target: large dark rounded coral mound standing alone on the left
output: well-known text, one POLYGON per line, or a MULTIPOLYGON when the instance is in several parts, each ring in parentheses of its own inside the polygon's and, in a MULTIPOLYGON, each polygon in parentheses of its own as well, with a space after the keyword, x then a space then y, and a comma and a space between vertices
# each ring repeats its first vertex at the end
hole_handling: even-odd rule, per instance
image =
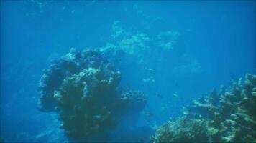
POLYGON ((71 141, 106 141, 120 119, 146 104, 140 92, 118 87, 121 73, 100 51, 70 53, 54 61, 40 79, 42 112, 58 112, 71 141))

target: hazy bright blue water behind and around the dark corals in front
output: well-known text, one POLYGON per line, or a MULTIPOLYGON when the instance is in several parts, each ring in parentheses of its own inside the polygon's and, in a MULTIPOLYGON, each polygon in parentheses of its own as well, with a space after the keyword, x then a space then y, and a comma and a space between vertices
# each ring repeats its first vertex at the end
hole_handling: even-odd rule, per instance
POLYGON ((114 44, 128 50, 109 57, 122 72, 120 86, 147 98, 134 125, 143 132, 116 130, 149 142, 155 127, 181 116, 193 99, 255 70, 255 6, 255 1, 1 1, 0 137, 68 142, 58 114, 37 109, 42 69, 72 47, 114 44))

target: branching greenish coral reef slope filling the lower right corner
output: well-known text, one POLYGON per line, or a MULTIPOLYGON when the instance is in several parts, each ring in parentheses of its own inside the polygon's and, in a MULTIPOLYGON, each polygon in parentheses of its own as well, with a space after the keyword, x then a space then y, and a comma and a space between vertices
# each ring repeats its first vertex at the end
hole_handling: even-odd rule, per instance
POLYGON ((152 142, 256 142, 256 75, 247 74, 185 107, 184 116, 158 127, 152 142))

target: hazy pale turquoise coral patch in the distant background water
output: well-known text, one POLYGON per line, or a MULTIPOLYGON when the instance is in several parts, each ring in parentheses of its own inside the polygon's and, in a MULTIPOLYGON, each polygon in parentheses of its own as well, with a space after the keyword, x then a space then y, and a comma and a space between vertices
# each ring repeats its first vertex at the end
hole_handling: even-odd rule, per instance
MULTIPOLYGON (((152 52, 166 52, 173 49, 178 43, 180 32, 162 31, 149 36, 149 31, 139 31, 132 26, 127 26, 121 21, 114 21, 111 27, 111 43, 101 47, 100 50, 107 54, 116 56, 122 51, 128 56, 135 56, 146 60, 147 55, 152 52)), ((152 56, 152 55, 151 55, 152 56)))

